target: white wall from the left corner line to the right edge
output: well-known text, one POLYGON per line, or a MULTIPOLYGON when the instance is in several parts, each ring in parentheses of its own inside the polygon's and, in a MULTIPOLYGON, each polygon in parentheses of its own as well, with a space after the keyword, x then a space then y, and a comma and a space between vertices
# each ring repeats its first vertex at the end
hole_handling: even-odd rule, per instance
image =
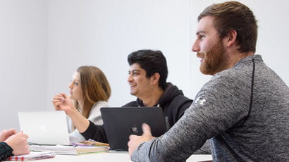
MULTIPOLYGON (((213 2, 49 1, 48 96, 67 93, 73 71, 89 64, 104 70, 113 91, 109 103, 121 106, 135 99, 130 96, 126 82, 128 54, 138 49, 160 49, 168 61, 168 81, 194 98, 210 76, 199 72, 199 59, 190 49, 195 40, 197 15, 213 2)), ((289 2, 279 0, 273 8, 271 1, 241 2, 250 6, 259 20, 257 53, 262 54, 265 63, 288 84, 286 59, 283 59, 288 55, 282 47, 289 36, 283 32, 289 25, 286 18, 289 2)), ((47 104, 50 102, 48 99, 47 104)))

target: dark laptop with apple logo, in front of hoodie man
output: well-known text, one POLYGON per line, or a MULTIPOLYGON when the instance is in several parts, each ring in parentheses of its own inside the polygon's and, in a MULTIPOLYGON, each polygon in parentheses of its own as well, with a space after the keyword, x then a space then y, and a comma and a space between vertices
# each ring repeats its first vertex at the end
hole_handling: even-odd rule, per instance
POLYGON ((167 130, 160 107, 103 107, 100 111, 111 150, 128 151, 128 137, 142 135, 142 123, 151 127, 154 137, 167 130))

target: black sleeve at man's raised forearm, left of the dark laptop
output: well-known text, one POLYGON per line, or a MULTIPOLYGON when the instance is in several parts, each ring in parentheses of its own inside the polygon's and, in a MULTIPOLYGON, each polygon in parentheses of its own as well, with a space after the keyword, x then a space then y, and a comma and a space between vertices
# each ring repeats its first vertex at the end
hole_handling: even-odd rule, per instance
POLYGON ((104 125, 94 125, 92 121, 90 121, 90 125, 87 127, 85 132, 80 133, 85 139, 93 139, 97 142, 108 143, 106 133, 104 131, 104 125))

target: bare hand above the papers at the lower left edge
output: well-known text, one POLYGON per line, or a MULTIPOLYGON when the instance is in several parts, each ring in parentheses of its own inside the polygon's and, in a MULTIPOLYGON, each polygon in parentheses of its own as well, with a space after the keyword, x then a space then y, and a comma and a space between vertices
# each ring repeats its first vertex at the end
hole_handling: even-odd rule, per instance
POLYGON ((15 156, 29 154, 30 149, 27 142, 28 135, 24 134, 23 131, 18 132, 16 135, 8 137, 4 142, 8 144, 12 149, 12 153, 15 156))

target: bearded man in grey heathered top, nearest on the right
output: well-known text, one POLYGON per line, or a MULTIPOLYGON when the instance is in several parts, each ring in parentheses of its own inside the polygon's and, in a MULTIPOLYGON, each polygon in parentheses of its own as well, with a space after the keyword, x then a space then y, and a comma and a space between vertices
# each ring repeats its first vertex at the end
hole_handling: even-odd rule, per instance
POLYGON ((192 51, 214 75, 161 137, 143 125, 131 135, 132 161, 185 161, 211 141, 213 161, 288 161, 289 89, 255 55, 257 20, 237 1, 213 4, 198 17, 192 51))

